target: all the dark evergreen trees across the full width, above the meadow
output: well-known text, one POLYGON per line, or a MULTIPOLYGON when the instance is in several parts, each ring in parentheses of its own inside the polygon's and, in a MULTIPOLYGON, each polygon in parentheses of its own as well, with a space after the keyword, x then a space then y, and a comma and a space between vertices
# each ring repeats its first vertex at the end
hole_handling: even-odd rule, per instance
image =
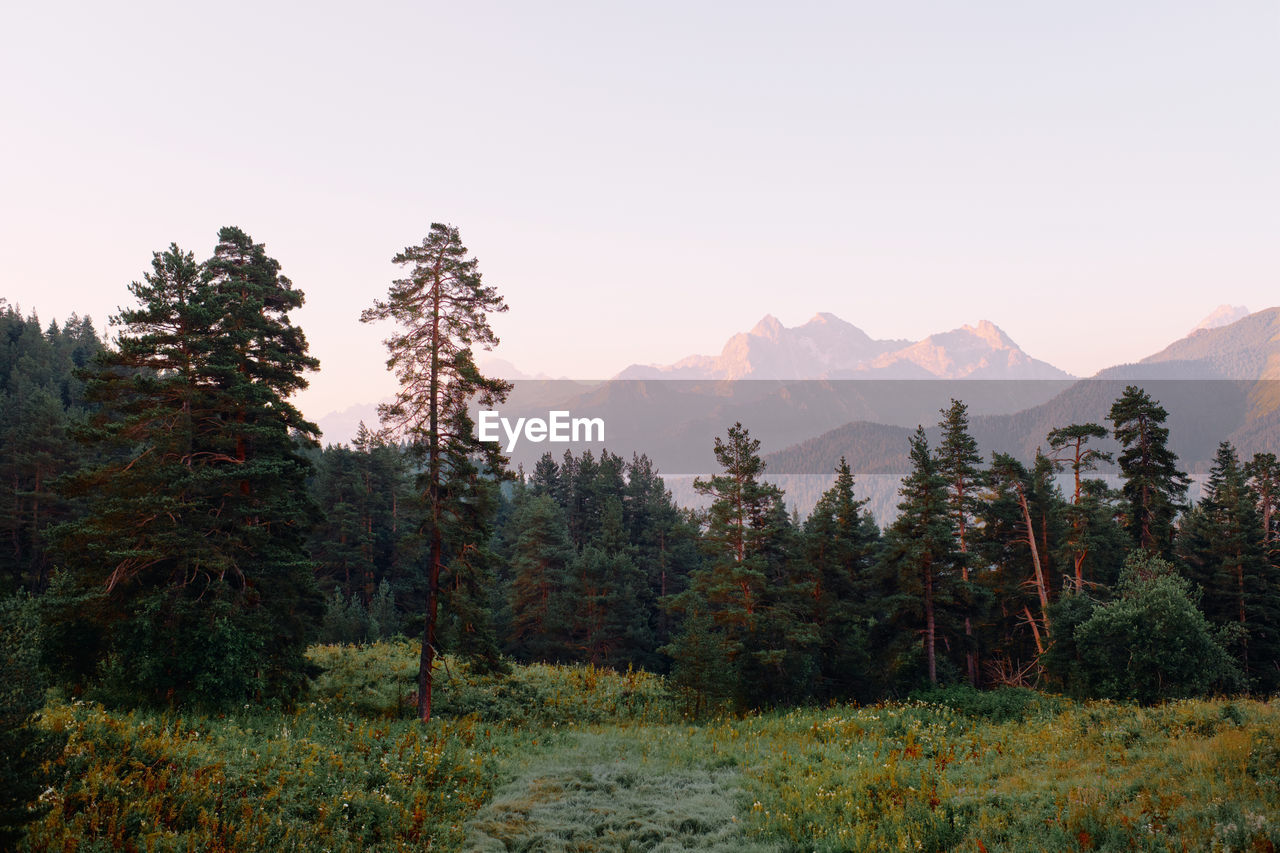
MULTIPOLYGON (((1139 387, 1029 461, 980 457, 952 401, 936 447, 910 438, 884 529, 844 461, 806 519, 788 512, 735 424, 691 511, 644 455, 508 471, 468 412, 507 393, 472 360, 506 306, 454 228, 394 260, 406 278, 362 319, 399 324, 402 392, 381 429, 323 450, 289 403, 319 366, 289 320, 302 293, 237 228, 205 261, 156 252, 110 345, 88 319, 42 328, 0 302, 6 738, 40 742, 24 726, 46 672, 122 704, 288 706, 315 675, 308 643, 402 633, 424 640, 424 720, 443 653, 494 674, 663 671, 737 707, 947 683, 1146 702, 1280 688, 1280 464, 1224 442, 1189 505, 1139 387)), ((0 775, 27 790, 28 770, 0 775)))

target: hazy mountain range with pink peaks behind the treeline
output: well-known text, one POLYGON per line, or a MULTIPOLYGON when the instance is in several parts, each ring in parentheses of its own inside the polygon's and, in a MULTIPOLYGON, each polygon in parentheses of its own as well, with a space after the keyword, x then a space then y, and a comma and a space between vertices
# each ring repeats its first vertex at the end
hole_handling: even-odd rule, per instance
MULTIPOLYGON (((1238 316, 1242 310, 1224 306, 1160 352, 1089 379, 1030 357, 989 321, 913 342, 874 339, 831 314, 795 328, 765 316, 730 338, 719 356, 632 365, 607 382, 548 380, 502 362, 488 369, 516 383, 504 414, 563 409, 602 416, 609 425, 604 446, 625 457, 649 453, 669 482, 714 470, 714 437, 741 421, 760 439, 769 471, 805 480, 817 494, 844 456, 859 482, 884 480, 879 503, 892 511, 906 437, 916 424, 936 424, 952 397, 969 405, 984 455, 1002 450, 1029 460, 1055 426, 1106 424, 1130 382, 1169 410, 1171 444, 1185 470, 1202 471, 1224 439, 1244 455, 1280 450, 1280 309, 1238 316)), ((376 423, 372 403, 320 425, 329 441, 344 441, 360 419, 376 423)), ((548 450, 558 456, 563 446, 525 443, 512 462, 527 470, 548 450)), ((801 510, 810 503, 796 484, 787 491, 801 510)))

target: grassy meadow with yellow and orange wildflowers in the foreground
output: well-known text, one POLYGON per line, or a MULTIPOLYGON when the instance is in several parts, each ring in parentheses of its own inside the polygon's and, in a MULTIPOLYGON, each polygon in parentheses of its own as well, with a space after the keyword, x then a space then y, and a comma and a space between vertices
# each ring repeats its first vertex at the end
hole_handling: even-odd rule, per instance
POLYGON ((289 713, 113 712, 65 731, 37 850, 1274 850, 1280 706, 1029 690, 691 720, 646 674, 440 674, 316 647, 289 713))

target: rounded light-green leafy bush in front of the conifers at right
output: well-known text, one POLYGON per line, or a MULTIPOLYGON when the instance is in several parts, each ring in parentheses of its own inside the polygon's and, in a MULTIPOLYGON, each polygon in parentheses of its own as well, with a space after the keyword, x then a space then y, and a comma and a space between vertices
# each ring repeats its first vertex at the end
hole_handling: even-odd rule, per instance
POLYGON ((1170 564, 1135 552, 1119 593, 1075 628, 1078 671, 1092 695, 1158 702, 1243 686, 1222 638, 1170 564))

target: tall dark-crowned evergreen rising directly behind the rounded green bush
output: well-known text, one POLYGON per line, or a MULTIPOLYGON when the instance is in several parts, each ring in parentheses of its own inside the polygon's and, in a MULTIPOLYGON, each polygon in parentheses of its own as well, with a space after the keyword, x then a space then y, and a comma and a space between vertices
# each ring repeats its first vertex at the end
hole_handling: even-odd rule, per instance
POLYGON ((1178 470, 1178 456, 1169 450, 1169 412, 1146 391, 1128 386, 1111 406, 1115 438, 1120 442, 1120 473, 1126 503, 1125 528, 1140 548, 1170 557, 1174 519, 1187 494, 1187 475, 1178 470))

